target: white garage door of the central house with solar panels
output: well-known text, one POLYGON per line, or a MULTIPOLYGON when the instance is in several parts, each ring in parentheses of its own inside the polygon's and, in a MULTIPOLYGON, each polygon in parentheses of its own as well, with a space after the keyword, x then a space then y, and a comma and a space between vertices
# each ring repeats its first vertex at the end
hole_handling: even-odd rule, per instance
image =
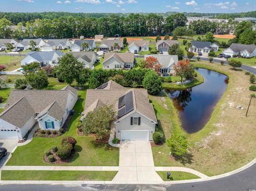
POLYGON ((122 140, 148 140, 149 131, 122 131, 122 140))

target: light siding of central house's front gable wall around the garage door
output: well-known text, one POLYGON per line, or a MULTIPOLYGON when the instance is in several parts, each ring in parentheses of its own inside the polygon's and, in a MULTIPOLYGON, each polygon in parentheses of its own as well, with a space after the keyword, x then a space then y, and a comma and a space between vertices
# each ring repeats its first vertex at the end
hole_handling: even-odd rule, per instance
POLYGON ((126 118, 116 123, 116 137, 118 139, 121 139, 122 130, 148 130, 149 140, 153 140, 153 134, 155 132, 155 123, 151 122, 151 120, 144 117, 139 112, 135 111, 130 115, 127 115, 126 118), (140 126, 135 124, 131 125, 131 117, 140 117, 140 126))

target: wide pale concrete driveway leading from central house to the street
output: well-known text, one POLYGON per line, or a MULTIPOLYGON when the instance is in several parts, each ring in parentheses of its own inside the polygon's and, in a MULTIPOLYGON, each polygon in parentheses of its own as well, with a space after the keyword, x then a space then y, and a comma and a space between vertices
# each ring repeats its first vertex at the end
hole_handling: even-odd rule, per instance
POLYGON ((121 142, 119 171, 113 181, 162 181, 155 171, 150 142, 143 140, 121 142))

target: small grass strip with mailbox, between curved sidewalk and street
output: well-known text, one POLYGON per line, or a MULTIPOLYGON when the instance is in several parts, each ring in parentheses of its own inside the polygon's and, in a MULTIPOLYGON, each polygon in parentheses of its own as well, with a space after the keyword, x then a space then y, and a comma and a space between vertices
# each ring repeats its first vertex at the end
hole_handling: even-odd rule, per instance
POLYGON ((157 171, 158 175, 164 180, 164 181, 173 181, 173 180, 190 180, 190 179, 197 179, 200 178, 196 175, 193 175, 189 172, 179 172, 179 171, 170 171, 171 177, 170 179, 167 179, 167 172, 165 171, 157 171))

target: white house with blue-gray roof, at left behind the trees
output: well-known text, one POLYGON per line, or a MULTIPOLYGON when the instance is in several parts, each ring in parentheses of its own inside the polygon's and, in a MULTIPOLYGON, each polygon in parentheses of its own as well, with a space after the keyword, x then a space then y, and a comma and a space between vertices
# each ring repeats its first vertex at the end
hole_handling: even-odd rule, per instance
POLYGON ((38 62, 40 67, 45 67, 47 65, 54 67, 58 64, 59 58, 62 57, 62 55, 63 53, 59 50, 49 52, 30 51, 20 63, 21 66, 23 66, 32 62, 38 62))

